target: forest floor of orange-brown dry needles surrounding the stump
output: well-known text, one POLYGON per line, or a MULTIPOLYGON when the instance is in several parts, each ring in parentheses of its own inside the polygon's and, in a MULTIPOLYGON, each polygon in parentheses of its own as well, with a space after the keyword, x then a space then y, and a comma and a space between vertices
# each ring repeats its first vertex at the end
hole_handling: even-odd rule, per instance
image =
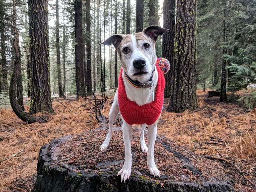
MULTIPOLYGON (((96 97, 106 117, 113 91, 108 94, 112 96, 106 101, 100 95, 96 97)), ((220 169, 225 170, 237 192, 256 191, 256 109, 239 106, 235 99, 219 103, 218 97, 207 98, 202 90, 197 91, 197 96, 198 109, 183 113, 166 112, 169 99, 165 99, 157 133, 220 162, 220 169)), ((44 124, 28 125, 11 109, 0 110, 0 191, 31 191, 39 149, 51 140, 107 126, 104 119, 98 123, 95 117, 94 97, 79 101, 54 99, 52 106, 55 114, 49 115, 44 124)), ((25 106, 25 110, 29 107, 25 106)))

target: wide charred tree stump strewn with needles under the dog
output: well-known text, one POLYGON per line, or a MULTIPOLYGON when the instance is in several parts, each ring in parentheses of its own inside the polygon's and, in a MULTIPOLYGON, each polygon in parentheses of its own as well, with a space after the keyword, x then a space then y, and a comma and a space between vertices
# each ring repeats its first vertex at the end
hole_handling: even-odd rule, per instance
POLYGON ((114 129, 108 149, 102 152, 99 148, 107 135, 105 129, 65 136, 41 147, 33 191, 234 191, 217 161, 198 156, 163 136, 157 136, 154 150, 161 177, 154 178, 141 152, 138 128, 132 133, 132 173, 126 183, 121 183, 117 176, 124 162, 121 130, 114 129))

